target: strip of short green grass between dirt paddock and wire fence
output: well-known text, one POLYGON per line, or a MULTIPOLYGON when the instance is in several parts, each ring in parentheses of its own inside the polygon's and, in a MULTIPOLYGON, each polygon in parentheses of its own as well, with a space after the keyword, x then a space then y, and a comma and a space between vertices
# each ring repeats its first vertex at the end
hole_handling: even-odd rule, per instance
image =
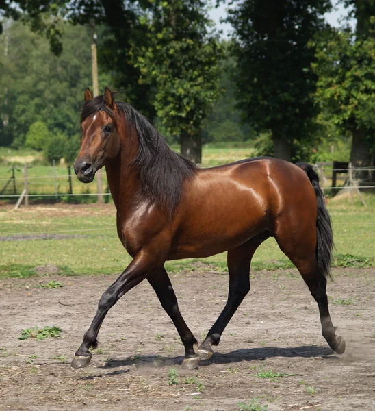
MULTIPOLYGON (((353 205, 349 199, 331 201, 334 265, 375 265, 375 196, 365 195, 365 199, 367 208, 359 199, 353 205)), ((49 264, 65 274, 119 273, 130 261, 116 234, 112 204, 33 206, 18 211, 0 208, 0 245, 0 277, 34 275, 36 266, 49 264), (57 237, 44 240, 43 235, 57 237)), ((200 261, 211 269, 227 270, 226 253, 200 261)), ((166 266, 174 272, 187 267, 194 270, 196 260, 167 262, 166 266)), ((273 239, 264 242, 253 258, 253 269, 291 266, 273 239)))

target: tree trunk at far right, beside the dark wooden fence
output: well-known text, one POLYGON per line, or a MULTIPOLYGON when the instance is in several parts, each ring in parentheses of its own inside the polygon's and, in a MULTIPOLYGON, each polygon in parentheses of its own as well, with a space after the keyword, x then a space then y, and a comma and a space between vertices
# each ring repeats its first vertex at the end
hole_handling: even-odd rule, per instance
MULTIPOLYGON (((372 165, 372 155, 370 147, 365 139, 365 131, 357 129, 352 132, 352 148, 350 150, 350 162, 352 167, 369 167, 372 165)), ((356 179, 364 180, 369 178, 369 171, 354 170, 356 179)))

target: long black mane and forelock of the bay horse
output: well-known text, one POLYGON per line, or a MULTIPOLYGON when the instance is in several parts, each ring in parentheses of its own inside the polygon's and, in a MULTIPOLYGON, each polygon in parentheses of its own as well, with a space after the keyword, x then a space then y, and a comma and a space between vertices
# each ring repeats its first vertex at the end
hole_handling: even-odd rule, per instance
MULTIPOLYGON (((174 153, 158 130, 131 105, 116 105, 125 114, 129 131, 134 128, 138 134, 139 149, 133 164, 140 170, 142 194, 172 215, 179 205, 183 182, 194 176, 195 164, 174 153)), ((83 105, 81 122, 101 110, 116 116, 104 97, 97 96, 83 105)))

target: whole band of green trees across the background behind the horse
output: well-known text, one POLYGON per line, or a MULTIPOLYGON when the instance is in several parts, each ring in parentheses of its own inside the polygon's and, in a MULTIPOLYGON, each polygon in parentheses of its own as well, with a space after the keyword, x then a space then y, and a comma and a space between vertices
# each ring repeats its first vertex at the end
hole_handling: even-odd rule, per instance
POLYGON ((0 145, 74 158, 83 90, 118 90, 168 142, 201 162, 204 143, 313 160, 352 141, 355 166, 374 162, 375 0, 343 0, 355 18, 335 29, 329 0, 234 1, 228 40, 205 1, 15 1, 0 8, 0 145))

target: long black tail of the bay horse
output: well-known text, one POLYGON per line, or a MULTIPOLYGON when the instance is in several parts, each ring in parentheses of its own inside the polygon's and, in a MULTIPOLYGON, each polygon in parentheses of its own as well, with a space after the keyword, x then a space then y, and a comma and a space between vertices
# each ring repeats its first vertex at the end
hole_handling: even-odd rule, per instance
POLYGON ((318 206, 318 215, 316 218, 316 259, 318 260, 318 266, 322 273, 326 277, 331 277, 330 271, 333 251, 331 217, 324 203, 324 194, 322 188, 319 186, 319 177, 310 164, 298 162, 296 165, 305 171, 315 190, 318 206))

